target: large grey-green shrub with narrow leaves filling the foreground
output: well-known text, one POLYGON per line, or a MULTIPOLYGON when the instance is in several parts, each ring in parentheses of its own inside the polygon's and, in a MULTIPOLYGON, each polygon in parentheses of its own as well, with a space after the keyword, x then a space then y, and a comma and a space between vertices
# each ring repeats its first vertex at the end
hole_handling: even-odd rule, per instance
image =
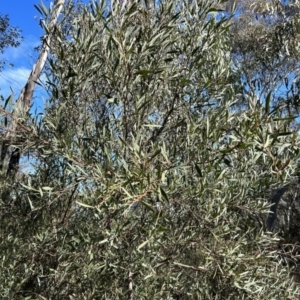
POLYGON ((1 185, 3 299, 299 294, 264 225, 299 137, 268 97, 238 109, 223 2, 65 6, 13 135, 34 165, 1 185))

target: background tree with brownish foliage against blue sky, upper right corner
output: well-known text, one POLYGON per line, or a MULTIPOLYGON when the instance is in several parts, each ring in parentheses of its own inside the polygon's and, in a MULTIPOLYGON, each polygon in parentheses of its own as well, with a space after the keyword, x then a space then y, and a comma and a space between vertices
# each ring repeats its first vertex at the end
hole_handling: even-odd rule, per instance
POLYGON ((230 28, 231 54, 244 93, 262 102, 271 94, 273 108, 291 118, 299 116, 299 11, 297 1, 242 0, 230 28))

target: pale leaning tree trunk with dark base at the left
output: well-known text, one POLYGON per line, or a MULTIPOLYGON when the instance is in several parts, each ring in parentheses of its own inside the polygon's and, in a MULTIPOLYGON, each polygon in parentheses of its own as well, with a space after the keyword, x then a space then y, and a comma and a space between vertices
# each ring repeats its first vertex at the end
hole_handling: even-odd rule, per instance
POLYGON ((38 56, 36 63, 34 64, 32 71, 29 75, 27 83, 21 91, 18 101, 15 104, 14 111, 11 116, 11 121, 4 134, 4 139, 2 141, 1 156, 0 156, 0 168, 2 171, 4 168, 5 159, 9 159, 7 166, 6 176, 13 178, 18 170, 19 160, 20 160, 20 148, 12 147, 12 137, 14 133, 18 131, 20 126, 20 120, 23 119, 32 104, 32 95, 36 85, 37 80, 45 66, 48 52, 50 50, 50 42, 52 35, 54 34, 55 24, 57 23, 58 16, 62 10, 65 0, 55 0, 54 9, 49 23, 47 24, 48 34, 43 38, 41 52, 38 56), (9 148, 12 149, 9 149, 9 148), (9 151, 11 150, 11 151, 9 151))

